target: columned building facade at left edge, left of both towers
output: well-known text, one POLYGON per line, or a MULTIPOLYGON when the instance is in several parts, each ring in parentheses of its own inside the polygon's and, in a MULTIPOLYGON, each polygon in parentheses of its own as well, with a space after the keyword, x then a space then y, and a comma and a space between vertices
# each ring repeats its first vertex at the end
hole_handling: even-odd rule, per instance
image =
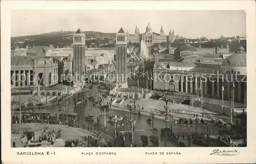
POLYGON ((11 59, 11 88, 37 88, 58 84, 61 82, 61 74, 69 72, 68 64, 55 58, 14 57, 11 59))

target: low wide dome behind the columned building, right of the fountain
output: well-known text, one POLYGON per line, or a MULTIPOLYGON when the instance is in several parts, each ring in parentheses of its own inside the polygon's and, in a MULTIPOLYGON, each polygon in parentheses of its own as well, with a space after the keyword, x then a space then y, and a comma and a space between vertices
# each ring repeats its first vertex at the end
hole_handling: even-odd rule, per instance
POLYGON ((184 44, 179 46, 175 51, 174 55, 176 56, 183 56, 183 55, 199 55, 199 52, 194 46, 191 46, 190 44, 184 44))

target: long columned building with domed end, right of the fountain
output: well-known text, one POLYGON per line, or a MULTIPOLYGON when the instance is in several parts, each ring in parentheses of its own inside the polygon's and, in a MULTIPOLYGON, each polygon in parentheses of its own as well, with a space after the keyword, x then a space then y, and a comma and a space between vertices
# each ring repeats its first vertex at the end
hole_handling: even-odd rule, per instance
POLYGON ((234 101, 246 101, 246 53, 237 53, 222 63, 201 56, 187 56, 174 62, 155 62, 154 89, 194 93, 229 101, 234 87, 234 101), (189 62, 190 61, 190 62, 189 62), (234 85, 233 85, 234 84, 234 85), (223 90, 224 87, 224 90, 223 90))

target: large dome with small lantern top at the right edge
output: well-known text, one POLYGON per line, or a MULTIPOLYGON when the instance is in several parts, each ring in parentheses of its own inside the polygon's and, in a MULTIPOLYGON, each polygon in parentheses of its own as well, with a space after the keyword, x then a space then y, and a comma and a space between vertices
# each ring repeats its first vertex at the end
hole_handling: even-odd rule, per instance
POLYGON ((246 53, 242 46, 222 62, 221 73, 246 75, 246 53))

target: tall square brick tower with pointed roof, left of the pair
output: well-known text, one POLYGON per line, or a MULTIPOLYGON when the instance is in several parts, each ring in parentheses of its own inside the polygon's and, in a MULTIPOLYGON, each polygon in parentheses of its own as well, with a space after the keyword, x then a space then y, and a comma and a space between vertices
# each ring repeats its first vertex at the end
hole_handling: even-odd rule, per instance
POLYGON ((86 72, 86 35, 78 29, 73 35, 73 86, 84 85, 81 76, 86 72))

